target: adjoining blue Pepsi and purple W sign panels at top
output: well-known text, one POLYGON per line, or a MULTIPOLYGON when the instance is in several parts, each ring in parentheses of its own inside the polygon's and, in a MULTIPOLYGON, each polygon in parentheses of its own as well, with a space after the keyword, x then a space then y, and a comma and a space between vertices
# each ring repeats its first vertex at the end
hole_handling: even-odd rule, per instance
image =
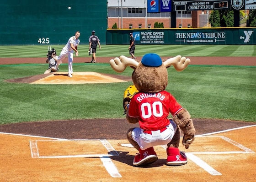
POLYGON ((148 13, 171 12, 171 0, 148 0, 148 13))

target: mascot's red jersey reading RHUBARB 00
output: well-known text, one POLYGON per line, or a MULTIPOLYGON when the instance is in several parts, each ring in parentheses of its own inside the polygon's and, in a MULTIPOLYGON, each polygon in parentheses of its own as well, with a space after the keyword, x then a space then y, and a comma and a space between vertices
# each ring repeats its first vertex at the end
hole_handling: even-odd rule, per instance
POLYGON ((183 109, 167 91, 157 93, 138 92, 130 102, 128 116, 139 117, 139 126, 156 131, 170 124, 169 113, 176 115, 183 109))

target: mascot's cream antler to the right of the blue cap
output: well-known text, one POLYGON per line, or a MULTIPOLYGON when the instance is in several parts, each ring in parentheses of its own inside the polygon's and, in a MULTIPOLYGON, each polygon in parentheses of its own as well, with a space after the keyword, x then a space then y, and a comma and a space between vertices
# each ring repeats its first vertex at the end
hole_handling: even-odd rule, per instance
POLYGON ((186 57, 181 57, 180 55, 170 58, 164 61, 164 65, 166 68, 173 66, 176 71, 183 71, 190 63, 190 59, 186 57))

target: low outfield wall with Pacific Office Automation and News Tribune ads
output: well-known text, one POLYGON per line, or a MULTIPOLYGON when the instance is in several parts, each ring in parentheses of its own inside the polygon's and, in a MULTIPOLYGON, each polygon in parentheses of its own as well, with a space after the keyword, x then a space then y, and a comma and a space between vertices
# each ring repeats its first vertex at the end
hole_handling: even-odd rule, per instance
POLYGON ((133 32, 136 44, 171 45, 256 45, 256 27, 253 28, 188 28, 188 29, 133 29, 107 30, 107 44, 130 44, 133 32))

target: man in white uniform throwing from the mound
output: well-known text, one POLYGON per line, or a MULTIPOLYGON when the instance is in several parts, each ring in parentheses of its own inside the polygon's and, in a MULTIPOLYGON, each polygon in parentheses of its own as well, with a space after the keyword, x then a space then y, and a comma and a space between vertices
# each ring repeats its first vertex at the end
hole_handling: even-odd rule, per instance
POLYGON ((66 56, 68 56, 69 61, 69 77, 72 77, 73 74, 73 52, 75 51, 75 56, 78 56, 77 46, 80 43, 80 40, 78 39, 80 37, 80 32, 76 31, 75 36, 72 36, 69 38, 67 44, 63 47, 62 51, 60 52, 60 55, 57 60, 57 66, 56 69, 58 70, 59 65, 62 63, 62 60, 66 56))

